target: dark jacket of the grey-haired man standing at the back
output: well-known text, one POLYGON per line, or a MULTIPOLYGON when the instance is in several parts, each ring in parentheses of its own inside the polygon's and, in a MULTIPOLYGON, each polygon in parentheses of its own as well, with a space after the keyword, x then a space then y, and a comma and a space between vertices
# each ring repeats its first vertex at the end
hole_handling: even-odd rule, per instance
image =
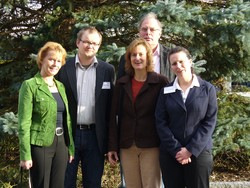
MULTIPOLYGON (((161 65, 161 74, 166 76, 168 78, 168 80, 171 82, 174 80, 175 75, 174 73, 171 71, 171 67, 169 65, 168 62, 168 52, 169 49, 161 44, 159 44, 159 48, 160 48, 160 65, 161 65)), ((121 78, 122 76, 124 76, 126 74, 125 72, 125 54, 121 57, 120 59, 120 63, 118 66, 118 73, 117 73, 117 79, 121 78)))

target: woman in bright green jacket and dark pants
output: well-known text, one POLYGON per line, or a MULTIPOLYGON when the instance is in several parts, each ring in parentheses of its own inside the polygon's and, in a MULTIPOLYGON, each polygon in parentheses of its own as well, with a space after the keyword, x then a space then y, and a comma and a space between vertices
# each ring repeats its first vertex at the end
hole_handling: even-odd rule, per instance
POLYGON ((67 161, 74 158, 68 101, 54 78, 66 55, 60 44, 47 42, 37 55, 40 71, 19 91, 20 166, 30 169, 34 188, 63 188, 67 161))

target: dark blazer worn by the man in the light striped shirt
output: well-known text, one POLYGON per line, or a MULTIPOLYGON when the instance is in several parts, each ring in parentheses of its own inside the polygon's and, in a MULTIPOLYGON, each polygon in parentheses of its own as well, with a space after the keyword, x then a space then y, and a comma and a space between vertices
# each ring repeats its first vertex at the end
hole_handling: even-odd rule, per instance
MULTIPOLYGON (((110 118, 111 98, 114 88, 114 66, 98 60, 96 68, 95 88, 95 130, 100 152, 107 153, 107 135, 110 118), (110 89, 103 89, 103 83, 109 82, 110 89)), ((73 138, 77 124, 77 82, 75 57, 69 58, 60 69, 56 78, 60 80, 65 88, 69 102, 69 113, 72 120, 73 138)))

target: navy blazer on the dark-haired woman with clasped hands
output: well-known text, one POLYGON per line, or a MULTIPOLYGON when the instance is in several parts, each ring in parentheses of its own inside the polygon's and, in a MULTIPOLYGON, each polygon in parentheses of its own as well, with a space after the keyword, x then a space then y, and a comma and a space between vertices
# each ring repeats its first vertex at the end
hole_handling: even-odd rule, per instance
POLYGON ((173 82, 161 90, 155 110, 161 152, 175 157, 186 147, 197 157, 203 150, 211 151, 218 111, 216 90, 199 77, 198 81, 200 87, 190 89, 185 103, 180 90, 171 90, 173 82))

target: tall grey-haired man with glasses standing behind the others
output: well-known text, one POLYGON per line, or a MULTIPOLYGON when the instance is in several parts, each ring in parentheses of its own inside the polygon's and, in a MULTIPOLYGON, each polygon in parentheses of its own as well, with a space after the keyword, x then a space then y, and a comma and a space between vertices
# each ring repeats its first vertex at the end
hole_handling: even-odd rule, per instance
MULTIPOLYGON (((162 34, 162 23, 158 20, 155 13, 146 14, 138 24, 139 36, 144 38, 153 50, 154 71, 166 76, 172 81, 175 75, 172 73, 167 54, 169 49, 159 43, 162 34)), ((121 57, 117 79, 124 76, 125 73, 125 57, 121 57)))

